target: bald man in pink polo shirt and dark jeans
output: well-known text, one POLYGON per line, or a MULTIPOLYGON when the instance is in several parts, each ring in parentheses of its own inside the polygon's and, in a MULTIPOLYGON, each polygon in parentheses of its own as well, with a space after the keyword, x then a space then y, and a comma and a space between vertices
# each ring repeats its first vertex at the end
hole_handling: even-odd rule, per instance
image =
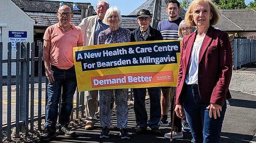
POLYGON ((45 133, 39 138, 45 141, 55 137, 60 96, 58 131, 67 137, 76 135, 76 132, 68 129, 73 108, 73 95, 77 86, 73 47, 83 45, 83 35, 81 29, 70 22, 73 18, 70 7, 61 6, 57 17, 59 22, 49 26, 44 34, 43 58, 49 83, 45 133))

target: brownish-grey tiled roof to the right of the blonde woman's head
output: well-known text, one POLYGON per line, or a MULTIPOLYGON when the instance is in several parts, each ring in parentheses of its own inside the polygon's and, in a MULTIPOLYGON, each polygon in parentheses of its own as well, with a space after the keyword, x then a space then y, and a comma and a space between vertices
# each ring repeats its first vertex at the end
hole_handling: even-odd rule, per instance
POLYGON ((224 31, 256 31, 256 11, 253 9, 222 9, 218 28, 224 31))

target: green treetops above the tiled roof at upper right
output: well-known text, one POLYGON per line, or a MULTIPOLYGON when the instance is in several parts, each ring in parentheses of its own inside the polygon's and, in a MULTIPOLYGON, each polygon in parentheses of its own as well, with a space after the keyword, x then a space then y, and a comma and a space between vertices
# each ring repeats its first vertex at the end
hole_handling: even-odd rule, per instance
POLYGON ((219 0, 219 2, 218 7, 220 9, 242 9, 247 7, 244 0, 219 0))

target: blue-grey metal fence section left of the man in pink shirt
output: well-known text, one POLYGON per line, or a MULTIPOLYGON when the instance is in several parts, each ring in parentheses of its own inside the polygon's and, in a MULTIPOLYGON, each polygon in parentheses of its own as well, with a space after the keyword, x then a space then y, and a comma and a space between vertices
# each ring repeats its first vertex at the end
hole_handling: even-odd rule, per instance
MULTIPOLYGON (((19 132, 28 135, 29 123, 30 132, 34 131, 34 121, 38 121, 41 127, 41 47, 39 45, 38 57, 35 57, 35 43, 16 43, 16 58, 12 59, 12 42, 8 42, 7 59, 0 58, 0 142, 3 140, 3 130, 7 131, 7 140, 11 140, 11 128, 15 127, 15 137, 19 132), (31 54, 31 58, 30 58, 31 54), (38 61, 38 116, 34 118, 34 67, 38 61), (7 63, 7 123, 3 123, 3 64, 7 63), (16 64, 15 85, 12 85, 12 63, 16 64), (31 73, 29 73, 31 71, 31 73), (30 85, 30 88, 29 88, 30 85), (12 119, 12 86, 15 86, 15 119, 12 119), (29 118, 29 91, 30 91, 30 117, 29 118)), ((0 57, 3 57, 3 43, 0 42, 0 57)))

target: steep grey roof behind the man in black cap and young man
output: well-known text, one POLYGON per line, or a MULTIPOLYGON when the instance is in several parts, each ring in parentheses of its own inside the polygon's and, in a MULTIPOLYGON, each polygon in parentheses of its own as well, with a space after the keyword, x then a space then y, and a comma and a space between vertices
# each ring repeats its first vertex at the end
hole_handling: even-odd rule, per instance
MULTIPOLYGON (((168 18, 168 14, 166 12, 166 5, 167 5, 168 0, 162 0, 162 5, 161 5, 161 21, 166 20, 168 18)), ((146 0, 145 3, 140 5, 138 8, 136 8, 134 11, 132 11, 129 15, 134 16, 137 15, 137 12, 140 11, 140 9, 147 9, 150 11, 151 14, 153 14, 154 10, 154 0, 146 0)), ((186 11, 183 8, 180 8, 180 12, 178 14, 178 17, 181 17, 184 19, 186 14, 186 11)))

